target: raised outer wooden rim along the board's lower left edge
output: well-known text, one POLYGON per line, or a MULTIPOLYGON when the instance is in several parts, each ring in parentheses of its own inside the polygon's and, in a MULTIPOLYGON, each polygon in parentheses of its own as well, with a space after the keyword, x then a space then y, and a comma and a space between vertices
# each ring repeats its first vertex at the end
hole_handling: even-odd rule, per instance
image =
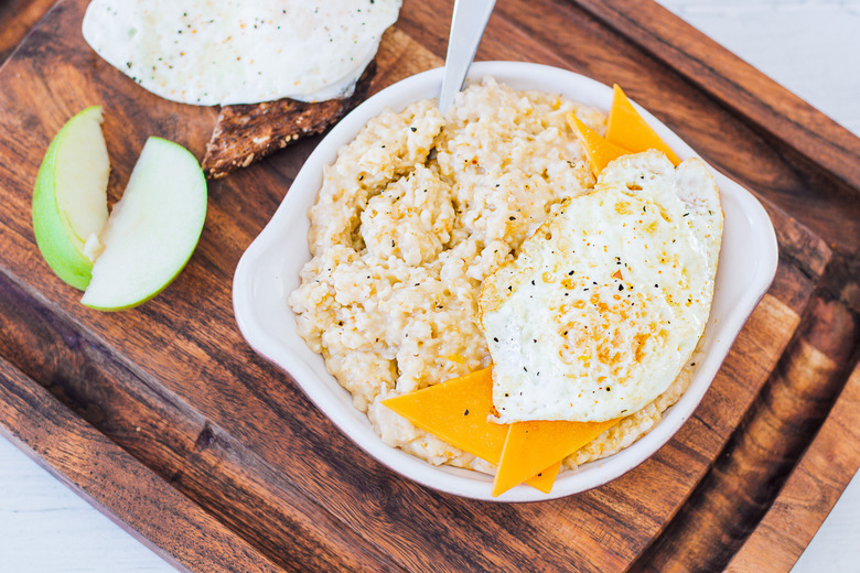
POLYGON ((3 359, 0 401, 7 437, 92 504, 133 522, 135 533, 174 566, 213 571, 235 563, 234 571, 280 571, 3 359))

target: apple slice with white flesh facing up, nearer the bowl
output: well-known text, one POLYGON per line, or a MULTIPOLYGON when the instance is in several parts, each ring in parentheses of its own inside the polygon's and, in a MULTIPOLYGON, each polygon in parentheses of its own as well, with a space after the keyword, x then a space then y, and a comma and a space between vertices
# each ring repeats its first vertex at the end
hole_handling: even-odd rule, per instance
POLYGON ((101 234, 80 302, 119 311, 161 292, 191 258, 206 218, 206 180, 185 148, 149 138, 101 234))

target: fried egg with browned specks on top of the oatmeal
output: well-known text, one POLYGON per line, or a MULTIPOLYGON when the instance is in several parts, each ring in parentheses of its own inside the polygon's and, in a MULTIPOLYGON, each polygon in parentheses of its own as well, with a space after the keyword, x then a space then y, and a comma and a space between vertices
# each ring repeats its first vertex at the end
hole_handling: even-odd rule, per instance
POLYGON ((498 422, 605 421, 664 392, 701 337, 722 237, 698 159, 610 163, 482 286, 498 422))

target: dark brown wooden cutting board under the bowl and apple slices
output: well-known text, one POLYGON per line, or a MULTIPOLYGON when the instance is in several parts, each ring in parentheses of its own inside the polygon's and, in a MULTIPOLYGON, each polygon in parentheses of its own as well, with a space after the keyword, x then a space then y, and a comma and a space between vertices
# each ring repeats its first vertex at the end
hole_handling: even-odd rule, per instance
MULTIPOLYGON (((61 0, 0 68, 0 431, 61 479, 190 571, 791 567, 860 465, 860 140, 649 1, 501 0, 479 60, 621 84, 762 198, 781 260, 654 457, 565 499, 460 499, 364 454, 236 327, 236 263, 319 139, 212 182, 194 257, 150 303, 98 313, 52 274, 30 202, 68 117, 105 107, 115 199, 147 137, 202 158, 217 113, 105 64, 85 7, 61 0)), ((450 13, 407 0, 373 90, 438 66, 450 13)))

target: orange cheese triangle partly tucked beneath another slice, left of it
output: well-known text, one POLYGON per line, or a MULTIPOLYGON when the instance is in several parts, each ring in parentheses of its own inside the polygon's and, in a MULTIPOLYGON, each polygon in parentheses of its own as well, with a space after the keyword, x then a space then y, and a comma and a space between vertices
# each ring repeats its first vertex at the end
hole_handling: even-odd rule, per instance
MULTIPOLYGON (((383 403, 418 428, 464 452, 495 465, 502 460, 508 426, 487 420, 494 412, 493 378, 488 367, 416 392, 388 398, 383 403)), ((550 462, 527 476, 526 483, 548 494, 559 467, 560 463, 550 462)))

